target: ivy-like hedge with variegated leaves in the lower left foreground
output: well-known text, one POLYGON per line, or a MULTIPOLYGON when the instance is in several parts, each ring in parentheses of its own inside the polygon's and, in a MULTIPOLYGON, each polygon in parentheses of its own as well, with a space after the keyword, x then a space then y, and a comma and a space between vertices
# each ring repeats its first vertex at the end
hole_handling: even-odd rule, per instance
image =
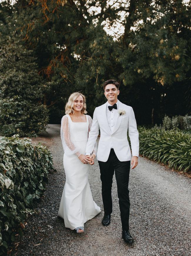
POLYGON ((23 223, 33 213, 53 169, 46 147, 18 136, 0 136, 0 254, 14 242, 15 228, 22 235, 23 223))

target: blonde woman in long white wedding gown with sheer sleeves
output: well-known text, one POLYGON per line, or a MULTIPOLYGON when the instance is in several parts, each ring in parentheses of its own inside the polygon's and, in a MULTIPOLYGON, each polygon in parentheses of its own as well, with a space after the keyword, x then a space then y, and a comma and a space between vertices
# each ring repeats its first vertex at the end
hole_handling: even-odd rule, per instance
POLYGON ((63 189, 58 216, 64 219, 66 228, 84 231, 84 223, 98 213, 100 207, 93 201, 88 174, 94 164, 97 143, 90 158, 85 156, 88 133, 92 119, 84 115, 86 98, 79 92, 70 95, 61 120, 61 139, 64 149, 63 165, 66 183, 63 189))

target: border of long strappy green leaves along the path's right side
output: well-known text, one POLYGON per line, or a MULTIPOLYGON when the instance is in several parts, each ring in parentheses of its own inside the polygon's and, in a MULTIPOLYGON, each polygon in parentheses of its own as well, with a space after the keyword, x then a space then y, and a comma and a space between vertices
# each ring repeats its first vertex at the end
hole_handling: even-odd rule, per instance
POLYGON ((191 136, 190 133, 154 127, 147 129, 139 127, 140 154, 169 164, 179 171, 191 169, 191 136))

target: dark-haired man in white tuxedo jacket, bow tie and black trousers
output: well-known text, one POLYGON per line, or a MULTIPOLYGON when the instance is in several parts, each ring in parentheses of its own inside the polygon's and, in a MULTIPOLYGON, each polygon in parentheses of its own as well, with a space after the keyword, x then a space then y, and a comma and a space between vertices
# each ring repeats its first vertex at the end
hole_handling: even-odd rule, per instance
POLYGON ((90 157, 100 129, 97 159, 100 167, 104 207, 102 224, 103 226, 110 224, 112 213, 111 187, 115 172, 122 223, 122 238, 126 243, 132 244, 134 240, 129 232, 130 201, 128 183, 130 162, 132 169, 138 164, 139 134, 132 107, 121 103, 117 98, 119 95, 118 82, 113 79, 105 81, 103 89, 108 101, 96 107, 94 111, 93 123, 86 146, 86 155, 90 157), (132 158, 127 131, 131 141, 132 158))

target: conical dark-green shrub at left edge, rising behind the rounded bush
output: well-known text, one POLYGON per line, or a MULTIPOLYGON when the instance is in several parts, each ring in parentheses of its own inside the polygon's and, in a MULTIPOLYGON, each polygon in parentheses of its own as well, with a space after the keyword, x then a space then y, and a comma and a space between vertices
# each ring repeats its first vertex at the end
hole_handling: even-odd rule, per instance
POLYGON ((43 84, 32 51, 9 37, 1 39, 0 45, 0 88, 4 97, 19 95, 24 100, 41 100, 43 84))

